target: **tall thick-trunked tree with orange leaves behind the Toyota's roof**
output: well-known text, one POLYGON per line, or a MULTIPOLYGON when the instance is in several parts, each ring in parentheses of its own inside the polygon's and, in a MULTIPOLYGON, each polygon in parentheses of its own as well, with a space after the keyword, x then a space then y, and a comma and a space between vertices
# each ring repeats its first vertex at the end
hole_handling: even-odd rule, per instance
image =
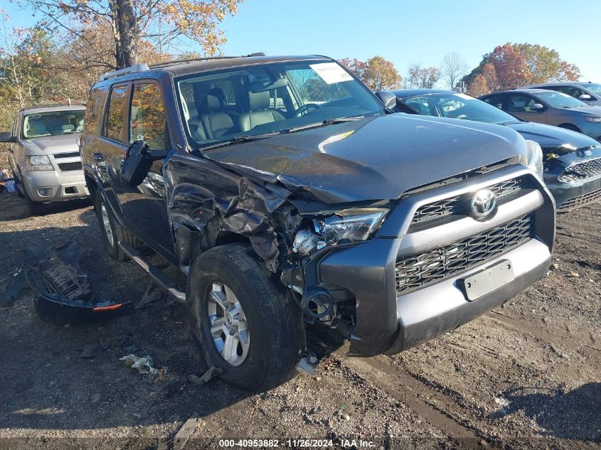
POLYGON ((235 14, 240 0, 23 0, 45 18, 53 33, 85 41, 86 26, 106 26, 112 36, 115 68, 139 61, 142 41, 169 53, 179 38, 189 38, 206 55, 225 42, 218 24, 235 14))

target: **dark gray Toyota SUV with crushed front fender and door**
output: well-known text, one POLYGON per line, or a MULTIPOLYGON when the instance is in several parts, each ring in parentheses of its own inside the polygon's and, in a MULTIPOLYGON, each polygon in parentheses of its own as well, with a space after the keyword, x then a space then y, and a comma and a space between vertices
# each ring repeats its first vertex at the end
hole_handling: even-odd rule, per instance
POLYGON ((81 145, 107 249, 186 303, 225 382, 310 371, 307 322, 351 355, 398 353, 546 274, 538 144, 393 101, 322 56, 143 64, 90 90, 81 145))

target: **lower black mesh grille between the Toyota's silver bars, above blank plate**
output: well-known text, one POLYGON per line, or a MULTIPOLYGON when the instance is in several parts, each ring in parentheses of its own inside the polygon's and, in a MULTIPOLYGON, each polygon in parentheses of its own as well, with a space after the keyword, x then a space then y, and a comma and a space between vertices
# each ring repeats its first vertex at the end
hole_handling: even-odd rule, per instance
POLYGON ((523 244, 533 236, 533 223, 533 215, 526 215, 454 244, 398 259, 397 294, 440 282, 523 244))

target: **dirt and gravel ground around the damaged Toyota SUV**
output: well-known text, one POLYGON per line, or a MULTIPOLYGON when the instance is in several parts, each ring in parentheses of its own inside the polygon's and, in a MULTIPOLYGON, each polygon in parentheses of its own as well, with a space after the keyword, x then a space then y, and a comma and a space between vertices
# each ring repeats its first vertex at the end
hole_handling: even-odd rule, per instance
MULTIPOLYGON (((181 306, 157 301, 106 321, 43 321, 24 289, 14 306, 0 309, 0 447, 177 449, 184 441, 174 438, 192 432, 186 449, 228 446, 220 439, 598 449, 601 206, 560 215, 557 231, 551 272, 504 306, 394 356, 348 358, 346 343, 317 331, 309 340, 320 358, 316 374, 262 395, 219 380, 188 381, 206 365, 181 306), (80 357, 101 341, 102 354, 80 357), (126 368, 119 358, 129 345, 154 358, 165 377, 148 382, 126 368)), ((31 218, 16 195, 0 195, 0 292, 21 267, 24 248, 75 236, 95 291, 138 301, 149 277, 132 262, 110 259, 99 232, 85 203, 31 218)))

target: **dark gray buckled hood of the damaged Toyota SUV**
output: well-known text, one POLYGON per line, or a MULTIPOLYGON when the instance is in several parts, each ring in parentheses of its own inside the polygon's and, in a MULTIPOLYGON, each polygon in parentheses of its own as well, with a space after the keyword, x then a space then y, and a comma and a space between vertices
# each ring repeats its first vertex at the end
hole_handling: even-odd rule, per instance
POLYGON ((324 203, 391 200, 417 186, 525 154, 509 127, 389 114, 206 151, 242 174, 324 203))

